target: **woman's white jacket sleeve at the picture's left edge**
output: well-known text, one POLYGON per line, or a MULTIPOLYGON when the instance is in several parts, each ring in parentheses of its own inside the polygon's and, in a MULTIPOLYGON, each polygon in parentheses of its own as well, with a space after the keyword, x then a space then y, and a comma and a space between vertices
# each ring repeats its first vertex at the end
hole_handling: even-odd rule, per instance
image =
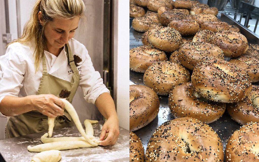
MULTIPOLYGON (((25 74, 25 61, 16 49, 8 47, 0 57, 0 102, 5 96, 18 96, 25 74)), ((6 117, 0 112, 0 117, 6 117)))

